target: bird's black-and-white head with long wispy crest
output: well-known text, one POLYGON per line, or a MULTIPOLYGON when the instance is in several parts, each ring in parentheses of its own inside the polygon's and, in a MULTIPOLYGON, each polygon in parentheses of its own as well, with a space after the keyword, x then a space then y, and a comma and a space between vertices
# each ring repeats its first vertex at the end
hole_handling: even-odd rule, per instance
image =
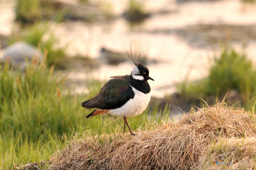
MULTIPOLYGON (((130 49, 131 51, 131 49, 130 49)), ((145 50, 143 50, 145 51, 145 50)), ((149 77, 149 70, 146 66, 142 65, 140 63, 140 56, 143 52, 142 50, 140 51, 139 57, 138 59, 136 58, 136 55, 134 54, 134 58, 132 56, 132 52, 131 52, 131 56, 128 54, 128 52, 126 51, 126 53, 128 54, 128 57, 132 60, 132 62, 135 64, 135 66, 132 69, 132 78, 135 80, 140 80, 140 81, 148 81, 148 80, 153 80, 151 77, 149 77)))

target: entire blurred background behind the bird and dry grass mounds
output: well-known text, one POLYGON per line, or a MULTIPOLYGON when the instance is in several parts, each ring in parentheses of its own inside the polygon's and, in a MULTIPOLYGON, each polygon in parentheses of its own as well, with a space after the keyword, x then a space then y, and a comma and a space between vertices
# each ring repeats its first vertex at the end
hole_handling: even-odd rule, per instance
POLYGON ((81 103, 130 74, 126 51, 143 51, 155 80, 132 129, 227 93, 255 113, 255 0, 0 0, 0 44, 0 169, 49 160, 76 132, 121 132, 122 118, 85 120, 81 103))

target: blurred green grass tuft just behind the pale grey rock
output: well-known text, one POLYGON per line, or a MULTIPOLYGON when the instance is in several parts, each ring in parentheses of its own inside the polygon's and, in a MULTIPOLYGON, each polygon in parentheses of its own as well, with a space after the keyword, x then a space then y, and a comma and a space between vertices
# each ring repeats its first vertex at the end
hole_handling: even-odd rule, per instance
POLYGON ((35 47, 39 47, 47 54, 47 65, 51 67, 60 62, 61 59, 66 57, 63 47, 56 48, 56 44, 59 43, 59 39, 50 30, 50 24, 35 23, 29 28, 23 29, 19 32, 13 32, 12 37, 9 39, 9 43, 16 41, 25 41, 35 47), (49 34, 46 38, 45 35, 49 34))

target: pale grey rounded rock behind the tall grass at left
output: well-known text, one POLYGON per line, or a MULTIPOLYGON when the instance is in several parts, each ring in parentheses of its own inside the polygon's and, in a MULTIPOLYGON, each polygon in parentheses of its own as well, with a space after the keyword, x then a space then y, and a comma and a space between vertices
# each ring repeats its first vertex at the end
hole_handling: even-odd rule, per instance
POLYGON ((43 53, 36 47, 27 44, 26 42, 18 41, 5 49, 3 49, 3 57, 1 62, 10 61, 12 67, 18 67, 24 70, 28 62, 32 59, 42 61, 43 53))

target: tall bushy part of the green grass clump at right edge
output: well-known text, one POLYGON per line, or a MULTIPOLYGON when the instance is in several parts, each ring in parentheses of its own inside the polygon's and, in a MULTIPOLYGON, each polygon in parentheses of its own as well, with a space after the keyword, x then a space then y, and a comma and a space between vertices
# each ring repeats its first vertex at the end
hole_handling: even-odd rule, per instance
POLYGON ((252 61, 244 53, 239 54, 234 49, 224 50, 220 58, 214 58, 214 65, 210 69, 209 93, 220 95, 236 89, 245 99, 251 100, 252 95, 256 94, 255 76, 252 61))

